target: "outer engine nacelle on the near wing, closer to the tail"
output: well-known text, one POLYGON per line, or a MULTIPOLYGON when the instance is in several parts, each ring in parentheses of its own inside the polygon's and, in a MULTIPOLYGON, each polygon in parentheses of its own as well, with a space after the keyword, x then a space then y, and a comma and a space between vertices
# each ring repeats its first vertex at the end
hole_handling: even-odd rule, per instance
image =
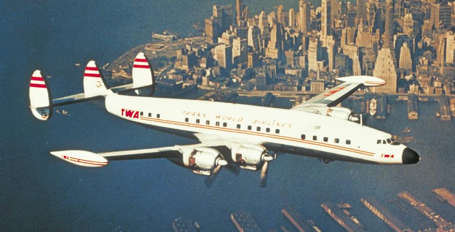
POLYGON ((181 157, 171 157, 169 160, 200 175, 210 175, 216 166, 227 165, 227 161, 219 151, 207 147, 183 149, 181 157))

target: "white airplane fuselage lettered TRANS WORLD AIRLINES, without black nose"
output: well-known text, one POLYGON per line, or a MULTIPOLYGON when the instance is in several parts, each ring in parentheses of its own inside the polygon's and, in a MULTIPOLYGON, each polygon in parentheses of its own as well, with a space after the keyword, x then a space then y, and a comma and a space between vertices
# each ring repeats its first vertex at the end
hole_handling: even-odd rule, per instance
POLYGON ((296 155, 379 164, 402 164, 406 148, 368 126, 297 110, 118 94, 106 96, 105 106, 123 119, 201 142, 224 139, 296 155))

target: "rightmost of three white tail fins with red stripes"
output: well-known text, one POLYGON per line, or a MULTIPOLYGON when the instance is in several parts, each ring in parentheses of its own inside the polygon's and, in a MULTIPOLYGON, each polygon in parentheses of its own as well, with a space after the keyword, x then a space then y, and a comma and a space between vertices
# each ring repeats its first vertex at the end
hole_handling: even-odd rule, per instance
POLYGON ((138 53, 133 63, 133 88, 140 96, 151 96, 155 92, 155 74, 143 52, 138 53))

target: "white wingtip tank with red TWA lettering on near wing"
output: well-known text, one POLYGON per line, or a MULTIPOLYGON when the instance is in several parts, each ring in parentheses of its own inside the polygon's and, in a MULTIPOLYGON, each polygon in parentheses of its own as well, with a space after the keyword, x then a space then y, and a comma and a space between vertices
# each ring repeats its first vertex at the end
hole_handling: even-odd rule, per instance
POLYGON ((59 151, 51 152, 51 155, 55 155, 67 162, 84 167, 103 167, 108 164, 105 157, 87 151, 59 151))

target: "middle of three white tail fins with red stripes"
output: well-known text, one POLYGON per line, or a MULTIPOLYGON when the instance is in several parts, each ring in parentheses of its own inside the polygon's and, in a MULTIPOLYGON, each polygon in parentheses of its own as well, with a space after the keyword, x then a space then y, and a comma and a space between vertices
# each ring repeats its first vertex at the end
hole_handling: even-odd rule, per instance
POLYGON ((95 61, 89 61, 84 72, 84 93, 86 98, 108 94, 106 81, 95 61))

